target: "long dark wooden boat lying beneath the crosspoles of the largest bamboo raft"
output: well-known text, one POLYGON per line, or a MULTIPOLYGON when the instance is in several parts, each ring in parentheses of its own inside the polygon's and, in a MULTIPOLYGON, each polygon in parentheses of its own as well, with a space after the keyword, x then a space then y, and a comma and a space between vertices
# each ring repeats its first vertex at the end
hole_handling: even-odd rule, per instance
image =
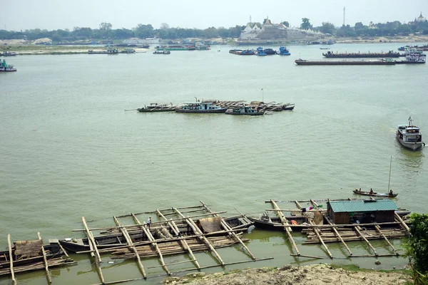
MULTIPOLYGON (((198 219, 197 224, 202 224, 205 219, 198 219)), ((225 218, 225 222, 232 228, 237 230, 245 231, 252 224, 251 222, 245 221, 240 217, 230 217, 225 218)), ((193 229, 188 226, 185 222, 175 222, 178 227, 180 233, 180 237, 185 235, 195 235, 193 229)), ((146 232, 141 228, 144 226, 141 225, 133 225, 127 226, 126 229, 128 231, 129 237, 131 237, 134 244, 150 242, 150 239, 146 236, 146 232)), ((203 226, 201 226, 203 228, 203 226)), ((176 237, 173 229, 168 226, 168 222, 155 222, 152 224, 149 230, 151 235, 157 239, 157 242, 171 242, 177 241, 180 237, 176 237)), ((218 232, 216 236, 225 235, 222 232, 218 232)), ((93 237, 98 249, 114 249, 116 247, 126 246, 127 241, 126 237, 123 236, 118 229, 111 228, 107 229, 105 232, 101 232, 101 235, 93 237)), ((196 238, 196 237, 195 237, 196 238)), ((79 239, 60 239, 59 243, 62 247, 69 252, 83 252, 86 250, 90 250, 89 241, 87 237, 79 238, 79 239)))

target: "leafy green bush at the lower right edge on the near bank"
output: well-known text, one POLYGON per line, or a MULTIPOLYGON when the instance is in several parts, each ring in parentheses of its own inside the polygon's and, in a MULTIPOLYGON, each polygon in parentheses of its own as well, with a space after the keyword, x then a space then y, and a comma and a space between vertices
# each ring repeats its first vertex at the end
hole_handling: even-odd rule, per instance
POLYGON ((428 214, 410 215, 410 235, 404 237, 403 247, 413 269, 414 284, 428 284, 428 214))

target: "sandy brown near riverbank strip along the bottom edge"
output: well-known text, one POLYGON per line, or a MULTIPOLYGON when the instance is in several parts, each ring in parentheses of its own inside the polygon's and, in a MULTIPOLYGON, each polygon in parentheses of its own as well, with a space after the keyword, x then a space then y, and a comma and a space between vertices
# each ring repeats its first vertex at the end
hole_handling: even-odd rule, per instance
POLYGON ((334 266, 317 264, 307 266, 285 265, 280 268, 264 267, 215 274, 195 273, 181 278, 170 277, 163 284, 188 285, 244 285, 244 284, 373 284, 398 285, 412 284, 411 271, 377 271, 360 269, 357 266, 334 266))

